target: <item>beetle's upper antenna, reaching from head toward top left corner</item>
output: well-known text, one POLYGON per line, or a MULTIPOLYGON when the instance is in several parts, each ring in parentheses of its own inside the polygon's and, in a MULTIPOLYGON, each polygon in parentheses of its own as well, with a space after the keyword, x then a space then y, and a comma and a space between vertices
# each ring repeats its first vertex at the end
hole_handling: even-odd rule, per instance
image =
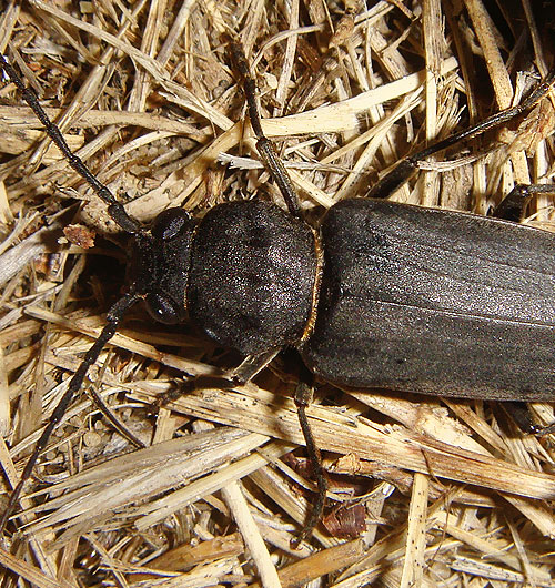
POLYGON ((63 139, 60 129, 50 120, 49 115, 44 112, 44 109, 40 105, 39 97, 36 94, 34 90, 23 83, 23 80, 2 53, 0 53, 0 68, 21 91, 23 100, 29 107, 31 107, 32 111, 44 126, 47 134, 62 152, 63 156, 68 160, 68 163, 83 180, 85 180, 97 195, 108 204, 108 214, 110 217, 127 233, 134 234, 141 232, 141 225, 129 216, 123 204, 115 200, 108 186, 95 178, 84 164, 83 160, 71 151, 65 139, 63 139))

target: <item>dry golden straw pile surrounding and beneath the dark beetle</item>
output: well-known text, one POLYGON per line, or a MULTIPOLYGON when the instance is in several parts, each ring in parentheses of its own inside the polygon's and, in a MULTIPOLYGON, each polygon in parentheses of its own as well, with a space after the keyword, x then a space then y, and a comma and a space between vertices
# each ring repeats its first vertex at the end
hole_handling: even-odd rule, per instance
MULTIPOLYGON (((239 40, 264 130, 317 219, 363 196, 416 145, 511 105, 546 73, 551 13, 529 4, 503 14, 480 0, 4 2, 0 50, 71 148, 148 222, 169 205, 202 214, 254 195, 281 201, 245 122, 229 52, 229 38, 239 40)), ((451 150, 447 165, 435 158, 395 200, 484 214, 514 183, 552 182, 549 99, 518 123, 451 150)), ((0 460, 17 483, 121 295, 124 253, 104 206, 6 82, 0 152, 0 460)), ((537 199, 529 222, 548 227, 551 202, 537 199)), ((321 384, 309 415, 334 510, 327 530, 292 550, 313 500, 305 454, 291 453, 303 443, 294 362, 279 357, 232 391, 208 386, 154 405, 183 374, 238 361, 133 310, 50 440, 28 510, 6 530, 6 581, 555 586, 551 439, 480 402, 321 384)), ((554 420, 553 406, 534 409, 554 420)))

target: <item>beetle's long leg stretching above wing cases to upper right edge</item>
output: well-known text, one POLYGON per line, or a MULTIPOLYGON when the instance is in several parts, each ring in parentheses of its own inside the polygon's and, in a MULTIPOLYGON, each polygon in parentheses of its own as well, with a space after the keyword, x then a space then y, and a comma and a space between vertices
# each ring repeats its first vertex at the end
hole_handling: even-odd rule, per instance
POLYGON ((422 151, 418 151, 413 155, 408 155, 407 158, 402 160, 400 163, 397 163, 397 165, 395 165, 395 168, 393 168, 390 173, 384 175, 384 178, 382 178, 382 180, 380 180, 372 187, 372 190, 366 194, 366 197, 389 197, 391 194, 393 194, 393 192, 400 189, 414 172, 416 172, 416 170, 418 169, 420 161, 423 161, 430 155, 438 153, 440 151, 443 151, 444 149, 447 149, 448 146, 458 143, 464 139, 473 139, 475 136, 480 136, 486 131, 496 129, 505 124, 507 121, 518 116, 519 114, 523 114, 524 112, 529 110, 536 102, 538 102, 549 91, 554 83, 555 69, 551 70, 544 78, 544 80, 539 82, 519 104, 502 110, 501 112, 496 112, 495 114, 487 116, 487 119, 480 121, 473 126, 468 126, 468 129, 464 129, 457 133, 454 133, 451 136, 444 139, 443 141, 438 141, 437 143, 434 143, 433 145, 430 145, 428 148, 423 149, 422 151))

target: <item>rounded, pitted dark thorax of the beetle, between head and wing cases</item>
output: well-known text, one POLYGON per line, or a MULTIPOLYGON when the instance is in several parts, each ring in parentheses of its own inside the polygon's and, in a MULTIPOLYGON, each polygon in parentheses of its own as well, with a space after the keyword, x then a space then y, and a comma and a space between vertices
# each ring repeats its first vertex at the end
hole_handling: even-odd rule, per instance
POLYGON ((295 344, 310 324, 316 268, 306 223, 260 200, 215 206, 193 240, 189 316, 244 355, 295 344))

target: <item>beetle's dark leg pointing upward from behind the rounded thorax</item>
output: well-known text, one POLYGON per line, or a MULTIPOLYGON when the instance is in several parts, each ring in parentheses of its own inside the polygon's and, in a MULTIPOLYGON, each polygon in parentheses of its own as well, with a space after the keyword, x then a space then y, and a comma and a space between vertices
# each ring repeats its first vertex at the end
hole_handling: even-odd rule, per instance
POLYGON ((262 130, 260 109, 256 99, 256 82, 251 75, 243 49, 233 41, 231 41, 231 54, 235 62, 236 71, 240 73, 243 81, 243 91, 249 108, 249 118, 251 119, 252 130, 256 135, 256 149, 259 150, 260 159, 270 172, 273 181, 278 184, 278 187, 285 200, 289 212, 293 216, 301 219, 301 204, 299 203, 299 196, 296 195, 291 176, 289 175, 287 170, 285 170, 280 155, 275 151, 275 145, 270 139, 268 139, 262 130))

